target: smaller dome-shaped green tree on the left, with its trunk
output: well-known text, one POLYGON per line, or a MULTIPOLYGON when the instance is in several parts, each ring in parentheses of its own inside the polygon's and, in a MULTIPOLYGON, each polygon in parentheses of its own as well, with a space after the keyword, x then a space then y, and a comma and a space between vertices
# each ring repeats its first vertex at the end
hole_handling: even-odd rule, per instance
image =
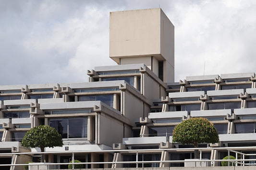
MULTIPOLYGON (((40 125, 26 132, 21 145, 26 148, 38 147, 41 149, 41 152, 44 152, 46 147, 62 147, 63 141, 61 135, 55 128, 40 125)), ((42 154, 41 162, 44 162, 44 154, 42 154)))

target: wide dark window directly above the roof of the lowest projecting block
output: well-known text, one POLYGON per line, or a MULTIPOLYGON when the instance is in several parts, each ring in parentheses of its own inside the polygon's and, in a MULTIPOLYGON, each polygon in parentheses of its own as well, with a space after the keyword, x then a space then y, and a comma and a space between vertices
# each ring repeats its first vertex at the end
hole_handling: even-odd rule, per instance
POLYGON ((93 96, 79 96, 79 101, 102 101, 103 103, 113 107, 113 95, 93 95, 93 96))

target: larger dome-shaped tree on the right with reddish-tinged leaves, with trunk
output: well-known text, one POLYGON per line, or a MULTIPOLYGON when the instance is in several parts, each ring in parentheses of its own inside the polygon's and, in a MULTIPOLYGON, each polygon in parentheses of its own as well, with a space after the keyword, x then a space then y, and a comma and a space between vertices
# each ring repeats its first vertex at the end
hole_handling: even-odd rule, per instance
MULTIPOLYGON (((198 143, 218 143, 219 135, 207 118, 193 117, 173 129, 172 142, 193 144, 198 148, 198 143)), ((195 150, 195 158, 199 158, 198 150, 195 150)))

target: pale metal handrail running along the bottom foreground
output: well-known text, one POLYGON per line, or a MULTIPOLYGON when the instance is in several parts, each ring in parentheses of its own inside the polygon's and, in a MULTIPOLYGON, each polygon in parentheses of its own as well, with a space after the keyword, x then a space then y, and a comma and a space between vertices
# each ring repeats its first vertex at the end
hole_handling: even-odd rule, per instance
MULTIPOLYGON (((180 162, 222 162, 228 161, 233 162, 235 166, 240 164, 243 165, 256 165, 256 163, 244 163, 244 161, 256 161, 256 159, 244 159, 246 155, 256 155, 256 154, 245 154, 236 150, 256 150, 256 147, 226 147, 226 148, 183 148, 183 149, 122 149, 122 150, 85 150, 85 151, 51 151, 51 152, 16 152, 16 153, 0 153, 0 156, 12 156, 12 164, 1 164, 1 166, 24 166, 28 164, 13 164, 13 157, 14 155, 32 155, 32 154, 72 154, 72 160, 74 160, 75 153, 135 153, 136 154, 136 161, 111 161, 111 162, 81 162, 81 163, 44 163, 44 165, 67 165, 67 164, 123 164, 123 163, 180 163, 180 162), (187 160, 155 160, 155 161, 138 161, 138 153, 145 153, 146 151, 150 151, 151 153, 159 153, 162 151, 191 151, 191 150, 199 150, 200 157, 199 159, 187 159, 187 160), (236 159, 202 159, 202 151, 211 151, 211 150, 227 150, 228 155, 230 152, 236 153, 236 159), (243 155, 243 159, 237 159, 237 154, 243 155)), ((147 152, 148 153, 148 152, 147 152)), ((33 163, 33 165, 42 165, 42 163, 33 163)))

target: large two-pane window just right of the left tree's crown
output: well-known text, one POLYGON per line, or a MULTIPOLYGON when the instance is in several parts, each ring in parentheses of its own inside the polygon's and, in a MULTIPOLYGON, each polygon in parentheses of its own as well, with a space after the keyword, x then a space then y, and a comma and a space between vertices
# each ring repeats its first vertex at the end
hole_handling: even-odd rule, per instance
POLYGON ((50 118, 49 125, 62 138, 87 138, 87 117, 50 118))

